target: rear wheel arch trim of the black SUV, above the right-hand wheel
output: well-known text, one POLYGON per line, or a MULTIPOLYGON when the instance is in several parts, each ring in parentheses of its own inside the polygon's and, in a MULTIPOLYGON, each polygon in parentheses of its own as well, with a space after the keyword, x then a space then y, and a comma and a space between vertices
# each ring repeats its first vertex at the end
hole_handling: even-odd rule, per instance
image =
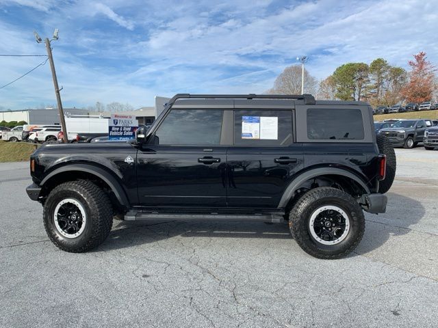
POLYGON ((296 191, 302 187, 305 182, 314 178, 324 178, 324 177, 339 177, 342 180, 350 181, 355 184, 356 187, 361 189, 362 193, 370 193, 368 186, 357 176, 345 169, 338 169, 336 167, 321 167, 316 169, 311 169, 310 171, 303 172, 298 175, 294 180, 287 186, 283 196, 279 202, 279 208, 286 208, 291 200, 294 199, 296 191))

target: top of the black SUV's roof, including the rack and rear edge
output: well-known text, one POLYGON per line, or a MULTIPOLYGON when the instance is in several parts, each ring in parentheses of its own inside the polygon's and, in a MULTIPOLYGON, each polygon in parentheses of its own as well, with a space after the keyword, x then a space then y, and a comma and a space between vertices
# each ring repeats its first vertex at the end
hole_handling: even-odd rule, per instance
POLYGON ((311 94, 176 94, 166 107, 233 108, 233 107, 290 107, 294 105, 367 105, 368 102, 342 100, 315 100, 311 94), (175 104, 175 105, 174 105, 175 104))

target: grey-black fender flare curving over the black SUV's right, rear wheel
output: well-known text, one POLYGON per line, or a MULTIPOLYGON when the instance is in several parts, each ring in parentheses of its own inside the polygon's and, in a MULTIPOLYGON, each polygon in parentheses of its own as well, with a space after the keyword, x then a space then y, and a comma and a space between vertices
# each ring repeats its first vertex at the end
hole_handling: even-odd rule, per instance
POLYGON ((345 176, 346 178, 350 178, 352 180, 355 180, 362 188, 365 190, 365 193, 370 193, 370 189, 367 187, 365 182, 361 180, 357 175, 352 174, 345 169, 337 169, 336 167, 321 167, 318 169, 311 169, 310 171, 304 172, 294 178, 294 180, 287 186, 285 189, 283 196, 281 197, 279 208, 285 208, 287 205, 287 202, 291 199, 291 197, 294 195, 295 191, 300 187, 300 185, 311 179, 315 178, 317 176, 324 176, 327 174, 335 175, 335 176, 345 176))

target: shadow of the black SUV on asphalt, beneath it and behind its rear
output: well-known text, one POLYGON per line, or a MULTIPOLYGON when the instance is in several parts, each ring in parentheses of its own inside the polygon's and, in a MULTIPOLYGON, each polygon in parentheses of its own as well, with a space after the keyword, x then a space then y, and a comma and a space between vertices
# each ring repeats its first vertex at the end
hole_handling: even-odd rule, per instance
MULTIPOLYGON (((420 202, 398 193, 388 193, 387 213, 365 214, 365 234, 356 254, 378 249, 390 236, 407 234, 409 226, 426 213, 420 202)), ((107 241, 95 251, 108 251, 157 243, 168 238, 259 238, 292 240, 287 223, 233 221, 114 221, 107 241)), ((355 254, 351 254, 355 256, 355 254)))

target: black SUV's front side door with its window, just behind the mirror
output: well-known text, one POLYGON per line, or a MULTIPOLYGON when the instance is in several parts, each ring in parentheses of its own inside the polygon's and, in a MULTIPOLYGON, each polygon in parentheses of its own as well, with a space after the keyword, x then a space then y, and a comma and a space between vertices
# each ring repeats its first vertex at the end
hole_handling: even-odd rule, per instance
POLYGON ((142 206, 227 206, 227 146, 220 146, 222 109, 172 109, 140 148, 142 206))

